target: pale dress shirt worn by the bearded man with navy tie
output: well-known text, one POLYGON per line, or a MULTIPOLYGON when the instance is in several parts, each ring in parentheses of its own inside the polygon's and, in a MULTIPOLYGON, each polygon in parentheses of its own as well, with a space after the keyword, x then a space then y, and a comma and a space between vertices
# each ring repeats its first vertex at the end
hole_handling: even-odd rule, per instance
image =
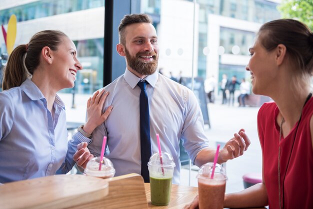
MULTIPOLYGON (((180 139, 192 161, 200 150, 208 146, 199 104, 190 89, 158 72, 144 79, 149 83, 146 91, 152 153, 158 150, 156 133, 159 133, 162 151, 170 153, 176 164, 172 182, 179 183, 180 139)), ((90 152, 98 156, 103 135, 107 135, 108 148, 104 156, 112 161, 115 175, 141 172, 139 80, 126 69, 123 75, 104 87, 109 94, 103 110, 109 105, 113 109, 106 121, 93 131, 88 145, 90 152)))

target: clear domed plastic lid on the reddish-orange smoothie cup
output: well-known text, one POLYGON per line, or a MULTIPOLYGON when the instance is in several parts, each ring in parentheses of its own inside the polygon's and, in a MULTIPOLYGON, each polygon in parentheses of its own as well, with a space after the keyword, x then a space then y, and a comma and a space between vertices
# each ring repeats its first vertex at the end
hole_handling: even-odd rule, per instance
MULTIPOLYGON (((197 177, 210 177, 213 170, 213 162, 207 162, 203 164, 199 170, 197 177)), ((215 164, 214 178, 227 178, 225 169, 218 163, 215 164)))

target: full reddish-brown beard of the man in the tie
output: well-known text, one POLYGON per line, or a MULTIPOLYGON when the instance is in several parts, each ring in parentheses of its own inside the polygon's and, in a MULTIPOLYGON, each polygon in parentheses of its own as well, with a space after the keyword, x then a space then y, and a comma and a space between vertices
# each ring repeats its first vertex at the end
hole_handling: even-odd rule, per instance
POLYGON ((157 68, 157 59, 158 54, 154 51, 152 52, 138 52, 133 57, 129 54, 129 51, 125 47, 126 60, 129 67, 138 72, 141 75, 150 75, 153 74, 157 68), (139 56, 152 56, 152 61, 145 62, 139 56))

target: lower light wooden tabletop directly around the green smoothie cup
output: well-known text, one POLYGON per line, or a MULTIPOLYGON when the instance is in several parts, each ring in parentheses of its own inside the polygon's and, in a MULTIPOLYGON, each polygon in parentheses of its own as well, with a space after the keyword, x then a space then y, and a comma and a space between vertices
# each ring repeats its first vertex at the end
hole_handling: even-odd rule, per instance
POLYGON ((144 189, 148 208, 183 208, 185 204, 190 203, 198 194, 197 187, 172 184, 169 204, 165 206, 156 206, 151 204, 150 183, 144 183, 144 189))

